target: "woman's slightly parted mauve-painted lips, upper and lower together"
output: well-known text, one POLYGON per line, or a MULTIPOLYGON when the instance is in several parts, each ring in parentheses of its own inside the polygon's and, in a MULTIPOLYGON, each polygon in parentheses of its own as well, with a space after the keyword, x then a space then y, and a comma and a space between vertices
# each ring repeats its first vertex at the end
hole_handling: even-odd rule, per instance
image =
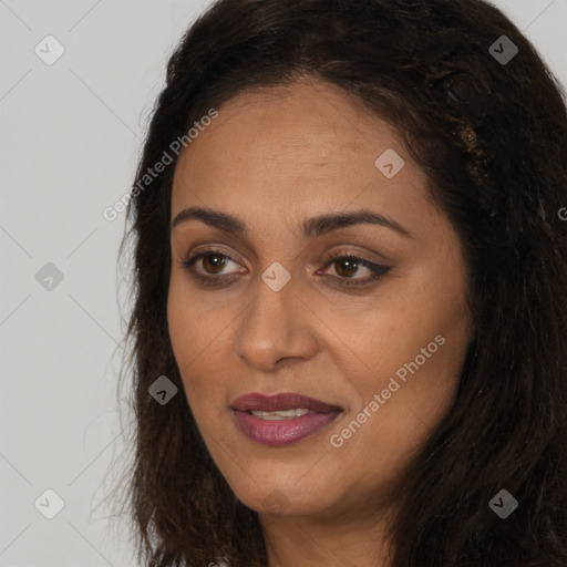
POLYGON ((231 404, 235 422, 240 432, 251 441, 268 446, 285 446, 312 435, 333 422, 342 409, 298 393, 264 395, 244 394, 231 404), (251 411, 306 409, 315 413, 291 420, 261 420, 251 411))

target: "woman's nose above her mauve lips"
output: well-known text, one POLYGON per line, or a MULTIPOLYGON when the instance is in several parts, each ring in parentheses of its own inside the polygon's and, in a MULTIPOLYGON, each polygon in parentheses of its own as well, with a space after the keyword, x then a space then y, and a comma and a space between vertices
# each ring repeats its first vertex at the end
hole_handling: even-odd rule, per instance
POLYGON ((235 338, 237 355, 256 370, 270 372, 319 350, 317 317, 308 309, 293 278, 279 291, 261 278, 255 282, 256 296, 239 319, 235 338))

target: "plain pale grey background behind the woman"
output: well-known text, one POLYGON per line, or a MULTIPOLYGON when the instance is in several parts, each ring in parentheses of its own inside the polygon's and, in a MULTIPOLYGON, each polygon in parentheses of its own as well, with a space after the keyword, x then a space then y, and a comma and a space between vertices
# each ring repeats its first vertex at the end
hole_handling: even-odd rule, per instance
MULTIPOLYGON (((128 192, 166 58, 209 3, 0 0, 0 566, 135 565, 103 502, 132 420, 116 392, 124 214, 102 212, 128 192), (56 54, 50 34, 64 53, 48 65, 34 49, 56 54), (48 488, 64 501, 52 519, 48 488)), ((567 84, 567 0, 494 3, 567 84)))

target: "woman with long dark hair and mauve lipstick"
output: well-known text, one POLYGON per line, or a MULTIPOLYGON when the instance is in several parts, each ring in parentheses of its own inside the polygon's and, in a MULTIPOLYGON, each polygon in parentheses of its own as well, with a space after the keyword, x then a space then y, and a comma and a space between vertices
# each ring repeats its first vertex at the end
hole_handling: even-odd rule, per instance
POLYGON ((566 187, 484 1, 207 10, 128 207, 143 565, 567 565, 566 187))

